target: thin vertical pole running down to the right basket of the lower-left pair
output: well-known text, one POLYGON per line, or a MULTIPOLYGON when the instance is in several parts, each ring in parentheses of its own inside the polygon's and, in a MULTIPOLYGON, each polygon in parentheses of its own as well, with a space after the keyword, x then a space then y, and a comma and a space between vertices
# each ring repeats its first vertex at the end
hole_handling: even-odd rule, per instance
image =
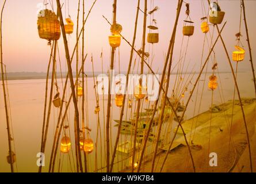
MULTIPOLYGON (((85 21, 85 0, 83 0, 83 22, 85 21)), ((83 26, 82 33, 82 58, 85 57, 85 27, 83 26)), ((82 131, 83 131, 83 141, 85 140, 85 61, 82 62, 82 131)), ((83 143, 85 145, 85 143, 83 143)), ((83 151, 83 159, 85 162, 85 173, 87 173, 87 159, 86 152, 83 151)))

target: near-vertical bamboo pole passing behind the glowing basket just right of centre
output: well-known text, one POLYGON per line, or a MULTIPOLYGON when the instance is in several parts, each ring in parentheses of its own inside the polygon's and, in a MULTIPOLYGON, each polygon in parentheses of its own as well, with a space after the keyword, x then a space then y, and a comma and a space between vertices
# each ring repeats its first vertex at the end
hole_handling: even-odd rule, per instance
MULTIPOLYGON (((143 20, 143 36, 142 36, 142 58, 145 56, 145 45, 146 45, 146 26, 147 26, 147 0, 144 1, 144 20, 143 20)), ((143 59, 140 64, 140 75, 143 75, 143 59)), ((142 78, 139 79, 139 85, 142 87, 142 78)), ((140 93, 140 90, 139 90, 140 93)), ((136 154, 136 138, 137 138, 137 124, 140 116, 140 101, 141 99, 137 99, 137 110, 136 110, 136 119, 135 119, 135 132, 133 137, 133 149, 132 149, 132 173, 134 171, 134 159, 136 154)))

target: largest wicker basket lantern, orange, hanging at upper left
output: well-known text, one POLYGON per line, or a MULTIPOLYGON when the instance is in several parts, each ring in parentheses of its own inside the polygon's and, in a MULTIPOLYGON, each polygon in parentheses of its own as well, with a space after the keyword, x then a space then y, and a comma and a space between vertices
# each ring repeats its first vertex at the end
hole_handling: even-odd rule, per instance
POLYGON ((46 40, 59 40, 60 22, 56 14, 48 9, 41 10, 37 19, 39 37, 46 40))

